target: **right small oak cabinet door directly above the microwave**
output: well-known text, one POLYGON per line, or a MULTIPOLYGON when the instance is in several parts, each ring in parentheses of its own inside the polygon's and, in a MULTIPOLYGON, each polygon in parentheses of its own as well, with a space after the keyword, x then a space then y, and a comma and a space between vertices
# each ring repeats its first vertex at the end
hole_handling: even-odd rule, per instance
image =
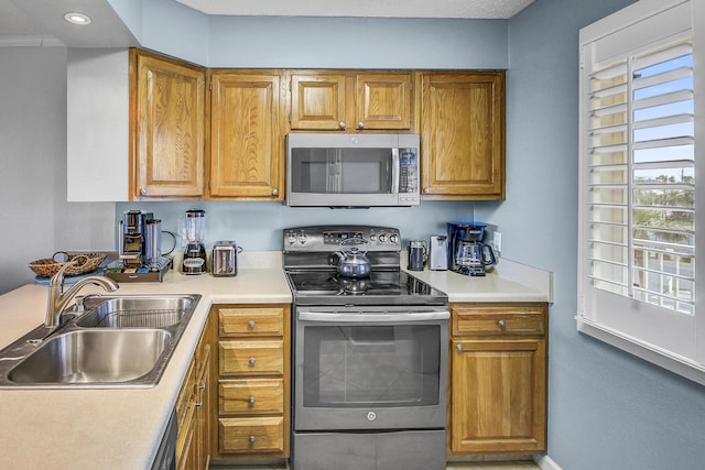
POLYGON ((411 74, 358 74, 357 122, 359 130, 411 128, 411 74))

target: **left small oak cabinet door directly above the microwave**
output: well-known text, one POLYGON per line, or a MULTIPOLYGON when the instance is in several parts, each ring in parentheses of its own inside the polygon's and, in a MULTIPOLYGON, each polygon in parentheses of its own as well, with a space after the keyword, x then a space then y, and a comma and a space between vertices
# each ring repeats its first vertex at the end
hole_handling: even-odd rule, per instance
POLYGON ((344 74, 292 74, 291 129, 345 130, 345 81, 344 74))

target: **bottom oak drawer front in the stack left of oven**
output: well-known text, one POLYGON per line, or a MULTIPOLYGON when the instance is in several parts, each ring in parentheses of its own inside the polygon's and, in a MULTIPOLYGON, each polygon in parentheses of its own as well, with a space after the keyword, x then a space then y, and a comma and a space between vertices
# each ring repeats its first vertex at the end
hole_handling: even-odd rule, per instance
POLYGON ((281 416, 218 419, 221 453, 282 453, 284 433, 281 416))

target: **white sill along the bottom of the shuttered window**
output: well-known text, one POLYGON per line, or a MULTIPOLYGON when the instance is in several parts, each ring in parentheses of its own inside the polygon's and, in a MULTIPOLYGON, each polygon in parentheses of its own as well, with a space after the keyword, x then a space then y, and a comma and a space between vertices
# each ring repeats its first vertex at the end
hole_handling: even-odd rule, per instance
POLYGON ((684 376, 695 383, 705 385, 705 364, 695 362, 682 356, 674 354, 664 349, 657 348, 619 331, 585 318, 576 317, 577 330, 595 339, 606 342, 622 351, 629 352, 644 361, 659 365, 674 374, 684 376))

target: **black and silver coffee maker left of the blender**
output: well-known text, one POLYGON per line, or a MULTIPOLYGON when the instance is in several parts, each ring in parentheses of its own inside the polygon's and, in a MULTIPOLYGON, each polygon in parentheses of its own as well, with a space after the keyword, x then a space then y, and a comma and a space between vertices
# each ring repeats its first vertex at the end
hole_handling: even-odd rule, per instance
POLYGON ((118 261, 106 275, 117 282, 162 282, 171 265, 162 255, 162 221, 152 212, 126 210, 118 226, 118 261))

